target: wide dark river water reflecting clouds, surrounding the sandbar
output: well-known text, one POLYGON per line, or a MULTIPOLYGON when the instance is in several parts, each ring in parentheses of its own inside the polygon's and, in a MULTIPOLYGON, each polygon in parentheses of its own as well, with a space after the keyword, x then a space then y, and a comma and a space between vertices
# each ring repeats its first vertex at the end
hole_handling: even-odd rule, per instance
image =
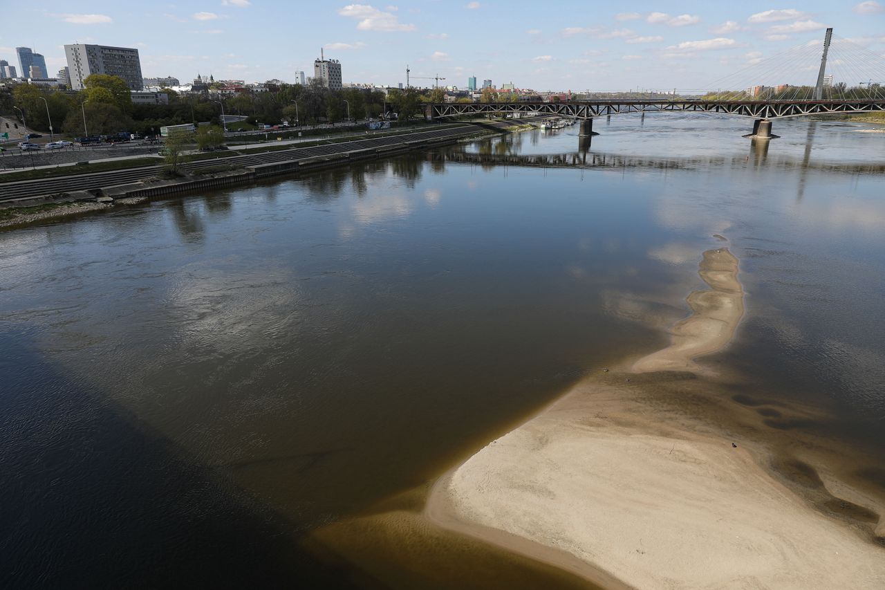
POLYGON ((304 541, 660 348, 721 245, 747 313, 710 362, 827 416, 760 437, 820 433, 885 494, 885 133, 750 127, 623 116, 0 233, 0 586, 374 587, 304 541))

